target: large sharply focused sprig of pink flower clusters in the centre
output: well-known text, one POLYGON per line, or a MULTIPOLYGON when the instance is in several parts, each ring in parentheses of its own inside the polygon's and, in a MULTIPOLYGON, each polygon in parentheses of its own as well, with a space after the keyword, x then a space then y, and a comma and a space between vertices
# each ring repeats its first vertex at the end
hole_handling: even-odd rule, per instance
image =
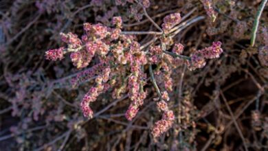
MULTIPOLYGON (((133 1, 129 1, 133 3, 133 1)), ((122 1, 117 1, 118 4, 123 4, 122 1)), ((148 2, 142 1, 142 7, 148 8, 148 2)), ((169 14, 164 17, 162 24, 162 32, 164 36, 172 35, 175 31, 173 27, 181 22, 181 14, 169 14)), ((125 117, 131 121, 137 115, 139 107, 144 104, 144 99, 147 97, 144 86, 148 84, 148 73, 144 70, 145 67, 152 65, 159 66, 159 69, 165 71, 165 86, 162 91, 159 90, 157 82, 154 80, 153 71, 150 72, 151 82, 153 82, 155 89, 159 96, 154 100, 159 100, 161 104, 166 104, 169 101, 169 94, 167 91, 172 91, 172 68, 176 67, 175 62, 180 60, 188 69, 194 70, 203 68, 205 66, 205 59, 219 58, 223 49, 221 49, 221 42, 214 42, 212 46, 205 47, 199 51, 195 51, 190 57, 182 56, 183 45, 181 43, 175 44, 172 51, 167 51, 162 45, 169 45, 161 42, 161 46, 151 43, 152 46, 146 47, 141 45, 135 36, 139 32, 122 32, 122 19, 119 16, 113 17, 111 25, 107 27, 101 23, 91 24, 84 23, 84 34, 78 38, 76 34, 69 32, 68 34, 61 33, 61 39, 66 43, 67 47, 64 49, 53 49, 46 52, 48 60, 61 60, 63 54, 70 53, 71 62, 78 69, 89 66, 92 60, 97 60, 98 63, 104 65, 104 69, 98 73, 95 79, 95 86, 92 86, 80 103, 80 108, 85 117, 92 118, 93 111, 90 103, 95 102, 101 93, 113 90, 114 98, 120 96, 122 89, 120 86, 113 84, 112 79, 119 81, 124 79, 127 81, 126 89, 129 99, 131 100, 125 117), (168 64, 174 65, 168 65, 168 64), (162 95, 160 94, 162 93, 162 95)), ((93 64, 94 66, 94 64, 93 64)), ((158 71, 159 72, 159 71, 158 71)), ((161 72, 161 71, 160 71, 161 72)), ((123 85, 124 86, 124 85, 123 85)), ((162 105, 160 105, 162 106, 162 105)), ((163 117, 160 121, 155 123, 153 128, 153 136, 159 137, 172 127, 174 120, 174 113, 162 108, 163 117), (163 110, 164 109, 164 110, 163 110)))

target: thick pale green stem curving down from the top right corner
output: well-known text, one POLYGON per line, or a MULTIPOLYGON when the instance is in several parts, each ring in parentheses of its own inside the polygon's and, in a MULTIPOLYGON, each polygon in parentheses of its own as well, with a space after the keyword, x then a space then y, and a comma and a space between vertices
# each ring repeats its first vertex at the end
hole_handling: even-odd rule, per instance
POLYGON ((258 30, 258 24, 259 24, 260 16, 263 13, 263 10, 265 8, 266 3, 267 3, 267 0, 263 0, 262 3, 260 3, 260 6, 258 7, 258 12, 256 14, 254 24, 253 24, 253 28, 252 28, 252 40, 250 41, 250 45, 252 45, 252 47, 255 44, 256 33, 257 33, 257 30, 258 30))

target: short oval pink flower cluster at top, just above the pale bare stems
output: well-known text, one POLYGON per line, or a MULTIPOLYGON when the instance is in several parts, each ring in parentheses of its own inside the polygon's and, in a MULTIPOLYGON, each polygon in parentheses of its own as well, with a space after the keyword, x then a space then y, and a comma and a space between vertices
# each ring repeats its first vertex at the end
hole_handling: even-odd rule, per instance
POLYGON ((165 18, 164 18, 164 23, 162 24, 162 29, 167 34, 168 32, 170 32, 172 27, 174 27, 175 25, 177 25, 180 22, 181 22, 181 14, 179 14, 179 13, 169 14, 168 16, 165 16, 165 18))

